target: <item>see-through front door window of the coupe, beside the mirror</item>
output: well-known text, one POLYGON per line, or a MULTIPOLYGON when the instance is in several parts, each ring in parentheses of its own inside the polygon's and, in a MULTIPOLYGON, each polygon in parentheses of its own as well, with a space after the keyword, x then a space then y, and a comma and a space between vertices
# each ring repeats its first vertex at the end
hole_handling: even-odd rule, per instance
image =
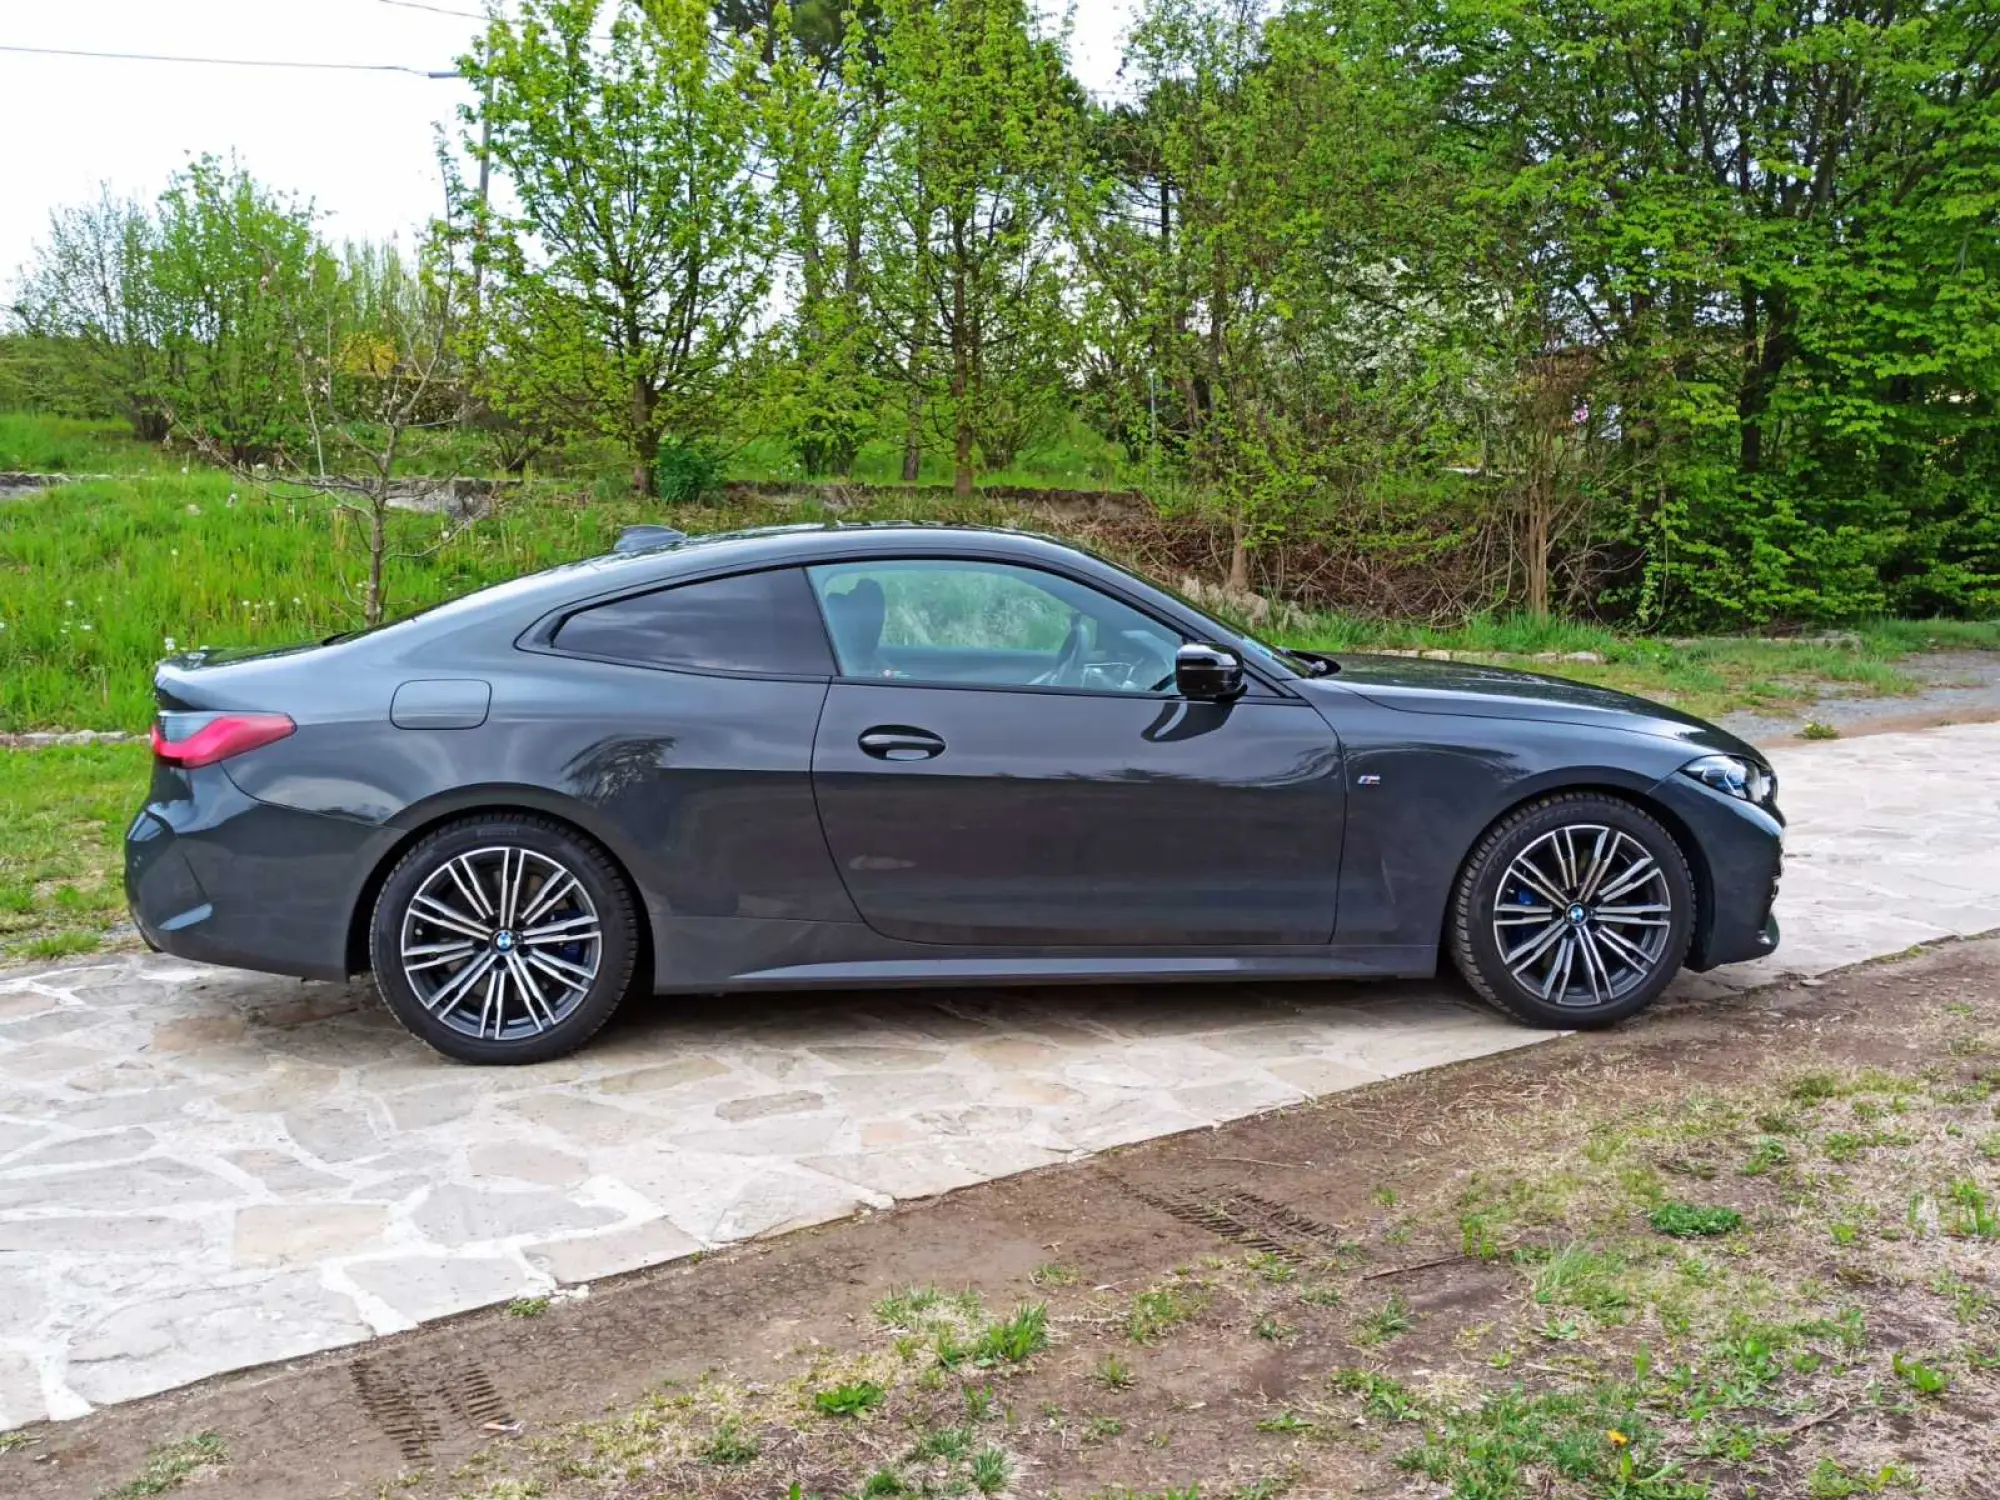
POLYGON ((1170 694, 1180 632, 1088 584, 968 558, 808 568, 840 674, 1170 694))

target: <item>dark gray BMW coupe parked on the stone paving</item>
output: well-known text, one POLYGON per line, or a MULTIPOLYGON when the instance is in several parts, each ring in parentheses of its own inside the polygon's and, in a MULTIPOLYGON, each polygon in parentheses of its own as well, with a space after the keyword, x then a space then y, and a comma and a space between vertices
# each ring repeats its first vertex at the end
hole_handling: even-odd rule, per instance
POLYGON ((1758 754, 1574 682, 1284 652, 1040 536, 642 534, 160 666, 156 948, 374 970, 536 1062, 632 990, 1432 974, 1536 1026, 1776 946, 1758 754))

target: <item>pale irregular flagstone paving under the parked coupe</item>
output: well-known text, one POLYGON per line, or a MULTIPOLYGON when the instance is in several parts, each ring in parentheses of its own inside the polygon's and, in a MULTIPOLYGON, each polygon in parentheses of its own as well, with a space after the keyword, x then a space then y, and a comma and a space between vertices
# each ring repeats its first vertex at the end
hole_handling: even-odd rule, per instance
MULTIPOLYGON (((2000 928, 2000 726, 1780 754, 1778 956, 2000 928)), ((0 1430, 1540 1034, 1454 984, 662 1002, 470 1070, 366 986, 0 974, 0 1430)))

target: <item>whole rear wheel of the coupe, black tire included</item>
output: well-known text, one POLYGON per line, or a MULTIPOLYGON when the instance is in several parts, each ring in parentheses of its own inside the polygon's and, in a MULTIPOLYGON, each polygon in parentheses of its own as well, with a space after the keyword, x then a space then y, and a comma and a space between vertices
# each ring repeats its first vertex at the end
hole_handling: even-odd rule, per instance
POLYGON ((396 1020, 444 1056, 478 1064, 548 1062, 580 1048, 596 1036, 618 1010, 618 1002, 624 1000, 632 986, 638 950, 632 892, 610 856, 576 830, 528 812, 474 814, 424 834, 382 882, 368 924, 368 956, 376 988, 396 1020), (566 938, 530 942, 532 928, 526 924, 516 936, 514 918, 508 916, 502 922, 502 912, 494 906, 508 886, 508 870, 516 872, 512 888, 524 892, 520 894, 522 914, 532 912, 534 904, 546 896, 556 902, 546 920, 556 928, 576 928, 580 936, 574 942, 566 938), (438 910, 432 900, 440 890, 446 890, 446 886, 430 882, 446 882, 462 874, 470 874, 472 888, 458 884, 446 910, 458 916, 472 912, 476 924, 492 928, 484 942, 470 928, 434 926, 432 918, 426 916, 426 912, 438 910), (558 874, 570 876, 574 888, 564 886, 558 874), (412 912, 412 902, 420 894, 426 900, 412 912), (478 902, 486 902, 490 910, 480 910, 478 902), (568 912, 576 912, 576 916, 568 916, 568 912), (590 926, 592 920, 594 926, 590 926), (464 946, 470 952, 462 960, 450 956, 406 958, 404 948, 418 946, 412 938, 442 940, 426 946, 464 946), (504 952, 500 952, 502 948, 504 952), (536 956, 540 962, 530 970, 536 956), (492 1002, 478 1014, 478 1034, 466 1030, 472 1018, 472 996, 482 992, 480 976, 474 974, 470 986, 458 986, 462 994, 456 998, 450 994, 452 982, 478 962, 486 964, 486 974, 500 972, 498 978, 486 980, 488 994, 492 986, 498 986, 500 992, 492 1036, 486 1034, 494 1010, 492 1002), (430 972, 418 978, 406 964, 430 972), (516 968, 528 978, 512 978, 516 968), (558 1002, 550 1002, 546 992, 554 990, 570 972, 576 978, 568 980, 558 1002), (588 982, 582 978, 586 972, 588 982), (544 1002, 542 1010, 536 1010, 528 998, 530 984, 536 998, 544 1002), (516 1000, 512 1020, 510 986, 516 1000))

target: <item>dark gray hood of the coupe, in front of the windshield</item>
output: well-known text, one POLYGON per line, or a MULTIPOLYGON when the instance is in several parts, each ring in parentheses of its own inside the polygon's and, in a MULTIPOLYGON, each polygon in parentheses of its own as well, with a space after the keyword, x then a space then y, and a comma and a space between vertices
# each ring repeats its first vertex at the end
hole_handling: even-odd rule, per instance
POLYGON ((1516 672, 1478 662, 1440 662, 1420 656, 1334 656, 1340 670, 1304 686, 1318 692, 1356 692, 1382 708, 1404 714, 1470 714, 1474 718, 1528 718, 1544 724, 1584 724, 1686 740, 1702 750, 1722 750, 1762 760, 1748 744, 1708 720, 1678 708, 1634 698, 1630 692, 1588 682, 1516 672))

